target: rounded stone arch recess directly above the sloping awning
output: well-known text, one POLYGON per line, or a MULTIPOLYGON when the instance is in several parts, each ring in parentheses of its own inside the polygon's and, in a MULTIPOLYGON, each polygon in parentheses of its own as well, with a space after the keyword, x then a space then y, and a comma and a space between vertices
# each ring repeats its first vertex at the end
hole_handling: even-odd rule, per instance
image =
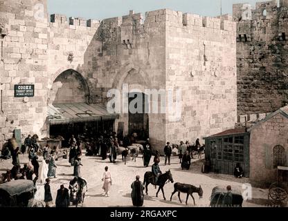
MULTIPOLYGON (((50 90, 49 90, 49 95, 48 95, 48 104, 53 104, 55 102, 55 99, 57 98, 57 94, 59 93, 58 90, 62 88, 64 84, 66 86, 70 85, 68 79, 71 79, 71 81, 74 81, 74 84, 75 82, 79 83, 79 88, 75 87, 75 89, 73 89, 73 86, 71 88, 73 92, 75 92, 75 90, 79 90, 80 92, 82 92, 82 95, 79 94, 79 96, 82 97, 82 99, 80 99, 80 102, 87 102, 87 98, 90 96, 90 87, 89 87, 87 80, 77 70, 74 70, 73 68, 69 68, 66 70, 62 70, 60 74, 53 76, 53 82, 51 86, 49 87, 50 90)), ((73 95, 71 95, 71 102, 72 102, 72 98, 73 98, 73 95)), ((74 99, 77 99, 77 97, 75 97, 74 99)), ((69 99, 68 99, 68 102, 69 102, 69 99)))

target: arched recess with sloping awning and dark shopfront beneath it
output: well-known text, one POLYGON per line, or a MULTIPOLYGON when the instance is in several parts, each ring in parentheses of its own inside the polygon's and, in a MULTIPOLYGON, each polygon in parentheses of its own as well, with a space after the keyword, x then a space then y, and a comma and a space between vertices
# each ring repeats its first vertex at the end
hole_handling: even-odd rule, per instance
POLYGON ((71 135, 96 137, 104 131, 113 131, 116 115, 107 112, 104 105, 91 104, 91 91, 86 79, 73 69, 58 75, 48 98, 48 124, 51 138, 61 135, 68 145, 71 135))

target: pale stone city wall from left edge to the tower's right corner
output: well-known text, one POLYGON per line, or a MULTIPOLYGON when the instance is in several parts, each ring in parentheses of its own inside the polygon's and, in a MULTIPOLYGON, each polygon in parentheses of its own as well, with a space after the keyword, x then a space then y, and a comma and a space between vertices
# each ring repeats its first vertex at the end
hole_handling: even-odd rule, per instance
MULTIPOLYGON (((12 0, 0 1, 0 23, 8 33, 1 39, 2 141, 15 128, 24 135, 48 136, 48 104, 73 100, 57 97, 57 88, 68 84, 61 74, 69 71, 88 87, 84 96, 89 103, 106 104, 108 90, 122 90, 123 84, 142 91, 181 88, 181 122, 171 124, 165 114, 149 114, 149 135, 157 148, 166 140, 231 128, 236 121, 235 23, 228 17, 165 9, 146 12, 145 20, 133 11, 102 21, 67 19, 49 16, 44 0, 12 0), (42 19, 35 17, 38 3, 44 6, 42 19), (14 97, 15 84, 34 84, 35 97, 14 97)), ((73 86, 77 84, 61 88, 61 94, 69 95, 73 86)), ((125 123, 127 133, 128 115, 120 114, 115 130, 118 122, 125 123)))

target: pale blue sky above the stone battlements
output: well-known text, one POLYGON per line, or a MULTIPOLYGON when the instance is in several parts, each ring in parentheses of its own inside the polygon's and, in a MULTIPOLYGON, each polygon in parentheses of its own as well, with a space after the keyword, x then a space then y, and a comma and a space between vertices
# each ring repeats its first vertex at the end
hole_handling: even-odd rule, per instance
MULTIPOLYGON (((259 0, 258 0, 259 1, 259 0)), ((264 0, 262 0, 264 1, 264 0)), ((220 15, 221 0, 47 0, 49 14, 62 14, 66 17, 84 19, 107 19, 135 13, 168 8, 201 16, 220 15)), ((231 14, 233 3, 251 3, 256 0, 222 0, 222 14, 231 14)))

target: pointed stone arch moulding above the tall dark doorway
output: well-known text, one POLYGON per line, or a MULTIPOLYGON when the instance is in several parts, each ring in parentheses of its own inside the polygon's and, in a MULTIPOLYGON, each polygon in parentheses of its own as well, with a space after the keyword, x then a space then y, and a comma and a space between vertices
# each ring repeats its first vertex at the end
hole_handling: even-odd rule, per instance
POLYGON ((143 68, 128 62, 116 74, 116 77, 114 79, 114 83, 112 84, 112 88, 117 88, 118 90, 121 90, 122 85, 125 82, 125 79, 131 73, 132 70, 134 70, 136 73, 141 75, 142 79, 144 80, 143 84, 145 87, 152 86, 152 82, 150 81, 150 77, 147 75, 147 73, 145 71, 143 71, 143 68))

